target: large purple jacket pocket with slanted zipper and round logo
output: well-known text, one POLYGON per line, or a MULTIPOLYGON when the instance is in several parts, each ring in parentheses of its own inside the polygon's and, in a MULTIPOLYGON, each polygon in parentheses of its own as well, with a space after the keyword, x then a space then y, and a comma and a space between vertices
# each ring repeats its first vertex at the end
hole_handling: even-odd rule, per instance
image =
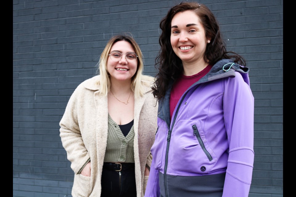
POLYGON ((170 148, 174 170, 205 174, 216 165, 216 155, 198 121, 180 121, 172 132, 170 148))

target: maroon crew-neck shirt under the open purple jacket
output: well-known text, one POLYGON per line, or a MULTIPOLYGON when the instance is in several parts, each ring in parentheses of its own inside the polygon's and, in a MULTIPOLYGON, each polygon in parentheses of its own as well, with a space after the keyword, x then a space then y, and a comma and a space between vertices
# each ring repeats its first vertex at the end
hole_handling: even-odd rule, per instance
POLYGON ((204 75, 206 75, 212 68, 212 65, 208 65, 204 68, 204 70, 200 71, 197 74, 191 76, 185 76, 181 74, 181 76, 175 81, 171 90, 170 96, 170 115, 172 119, 173 112, 175 107, 177 106, 181 96, 183 93, 195 82, 201 79, 204 75))

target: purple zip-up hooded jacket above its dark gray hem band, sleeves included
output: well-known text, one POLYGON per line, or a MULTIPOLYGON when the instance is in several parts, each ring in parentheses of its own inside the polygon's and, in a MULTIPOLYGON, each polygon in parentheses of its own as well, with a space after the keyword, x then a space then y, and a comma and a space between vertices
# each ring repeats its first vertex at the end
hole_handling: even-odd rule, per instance
POLYGON ((167 195, 167 175, 190 179, 225 172, 223 197, 248 196, 254 161, 254 98, 248 72, 231 60, 218 61, 182 95, 172 120, 170 85, 158 104, 145 197, 159 196, 160 184, 167 195), (164 175, 162 183, 159 172, 164 175))

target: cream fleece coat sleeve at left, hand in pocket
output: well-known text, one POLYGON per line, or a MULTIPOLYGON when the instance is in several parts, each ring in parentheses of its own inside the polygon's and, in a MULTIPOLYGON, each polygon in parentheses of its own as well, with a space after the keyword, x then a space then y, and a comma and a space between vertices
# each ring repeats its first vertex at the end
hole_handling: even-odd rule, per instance
POLYGON ((77 92, 76 89, 69 99, 65 113, 60 121, 60 137, 75 174, 79 174, 82 167, 90 159, 88 151, 84 146, 78 123, 77 110, 79 102, 77 102, 77 92))

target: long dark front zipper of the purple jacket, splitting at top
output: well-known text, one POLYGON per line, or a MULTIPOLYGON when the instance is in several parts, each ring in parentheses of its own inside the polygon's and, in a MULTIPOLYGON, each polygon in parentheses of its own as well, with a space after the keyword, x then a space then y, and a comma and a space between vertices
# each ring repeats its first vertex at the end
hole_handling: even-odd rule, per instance
POLYGON ((181 103, 183 102, 185 96, 187 95, 188 91, 183 95, 180 103, 179 103, 179 106, 176 110, 176 114, 174 116, 174 119, 173 119, 173 122, 172 122, 172 127, 171 127, 171 130, 170 130, 170 127, 168 126, 167 124, 167 121, 166 121, 166 118, 165 118, 165 114, 164 114, 164 110, 163 110, 163 104, 162 104, 162 114, 163 114, 163 118, 164 118, 164 121, 166 122, 167 124, 167 128, 168 128, 168 134, 167 134, 167 150, 166 150, 166 159, 165 159, 165 163, 164 163, 164 188, 165 188, 165 194, 166 194, 166 197, 168 197, 168 193, 167 193, 167 163, 168 163, 168 157, 169 157, 169 148, 170 148, 170 141, 171 141, 171 133, 172 133, 172 130, 173 130, 173 127, 174 127, 174 124, 175 124, 175 121, 176 121, 176 118, 177 118, 177 115, 178 115, 178 112, 179 112, 179 108, 181 106, 181 103))

